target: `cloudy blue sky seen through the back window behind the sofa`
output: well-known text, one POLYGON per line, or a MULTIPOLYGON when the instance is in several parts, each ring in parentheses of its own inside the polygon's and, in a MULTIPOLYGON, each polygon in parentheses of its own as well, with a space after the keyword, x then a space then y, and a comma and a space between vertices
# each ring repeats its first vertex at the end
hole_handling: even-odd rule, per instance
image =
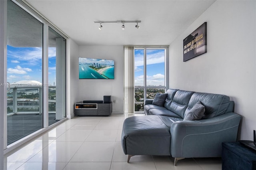
MULTIPOLYGON (((147 49, 147 85, 164 85, 164 49, 147 49)), ((134 50, 134 83, 143 86, 144 81, 144 49, 134 50)))

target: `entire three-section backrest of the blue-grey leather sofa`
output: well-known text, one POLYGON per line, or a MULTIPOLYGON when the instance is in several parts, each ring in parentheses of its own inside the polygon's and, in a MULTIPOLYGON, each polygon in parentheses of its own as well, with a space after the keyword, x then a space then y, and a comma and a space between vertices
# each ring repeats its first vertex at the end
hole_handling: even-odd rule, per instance
POLYGON ((168 89, 164 107, 169 111, 184 118, 184 115, 200 101, 205 106, 205 113, 202 119, 208 119, 232 112, 234 102, 226 95, 212 93, 198 93, 194 91, 183 91, 178 89, 168 89))

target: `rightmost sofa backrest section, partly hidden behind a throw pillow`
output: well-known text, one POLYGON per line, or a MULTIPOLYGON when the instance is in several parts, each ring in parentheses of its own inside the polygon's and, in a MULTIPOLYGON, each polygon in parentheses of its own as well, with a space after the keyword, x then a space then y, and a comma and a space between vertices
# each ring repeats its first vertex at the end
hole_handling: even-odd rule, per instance
POLYGON ((202 119, 208 119, 226 113, 230 105, 230 99, 226 95, 195 92, 190 98, 186 113, 198 102, 205 106, 205 113, 202 119))

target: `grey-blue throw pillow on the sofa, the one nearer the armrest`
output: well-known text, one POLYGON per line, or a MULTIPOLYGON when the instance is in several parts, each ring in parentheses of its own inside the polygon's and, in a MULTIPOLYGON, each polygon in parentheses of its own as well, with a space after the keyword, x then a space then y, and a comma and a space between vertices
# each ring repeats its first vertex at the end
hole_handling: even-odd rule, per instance
POLYGON ((190 111, 185 113, 183 121, 196 121, 202 119, 205 112, 205 107, 198 101, 190 111))

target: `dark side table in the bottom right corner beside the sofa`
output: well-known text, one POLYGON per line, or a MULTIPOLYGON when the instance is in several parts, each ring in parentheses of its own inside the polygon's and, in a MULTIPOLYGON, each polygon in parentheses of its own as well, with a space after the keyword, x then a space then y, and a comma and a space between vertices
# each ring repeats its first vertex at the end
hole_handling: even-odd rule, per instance
POLYGON ((256 152, 240 142, 223 142, 222 170, 256 170, 256 152))

